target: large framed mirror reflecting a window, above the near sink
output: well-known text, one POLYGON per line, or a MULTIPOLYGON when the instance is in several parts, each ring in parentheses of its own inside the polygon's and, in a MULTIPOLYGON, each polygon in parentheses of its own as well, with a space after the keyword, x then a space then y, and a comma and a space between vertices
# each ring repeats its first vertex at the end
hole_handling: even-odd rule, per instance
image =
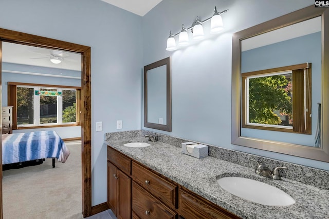
POLYGON ((231 143, 329 162, 329 9, 232 37, 231 143))

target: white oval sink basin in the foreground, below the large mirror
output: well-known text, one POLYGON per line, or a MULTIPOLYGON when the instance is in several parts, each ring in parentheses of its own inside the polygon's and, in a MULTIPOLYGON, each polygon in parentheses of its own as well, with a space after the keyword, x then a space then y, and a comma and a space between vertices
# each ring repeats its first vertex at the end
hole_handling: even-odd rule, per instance
POLYGON ((269 206, 295 204, 294 198, 277 187, 249 178, 223 177, 219 178, 217 183, 231 194, 258 204, 269 206))

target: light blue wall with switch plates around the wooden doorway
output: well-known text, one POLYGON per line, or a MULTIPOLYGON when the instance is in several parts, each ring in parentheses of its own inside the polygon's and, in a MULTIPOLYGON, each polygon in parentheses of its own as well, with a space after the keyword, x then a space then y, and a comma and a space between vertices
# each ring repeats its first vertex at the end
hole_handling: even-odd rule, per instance
POLYGON ((0 8, 0 28, 91 47, 92 204, 106 202, 104 133, 141 129, 142 18, 99 0, 2 0, 0 8))

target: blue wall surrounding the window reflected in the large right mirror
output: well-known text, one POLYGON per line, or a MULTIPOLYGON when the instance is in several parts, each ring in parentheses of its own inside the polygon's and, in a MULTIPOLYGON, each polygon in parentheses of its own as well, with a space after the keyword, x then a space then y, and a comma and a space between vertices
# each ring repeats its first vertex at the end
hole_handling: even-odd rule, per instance
POLYGON ((317 103, 321 102, 321 47, 321 32, 317 32, 242 52, 243 73, 312 63, 312 135, 241 128, 242 136, 315 146, 317 103))

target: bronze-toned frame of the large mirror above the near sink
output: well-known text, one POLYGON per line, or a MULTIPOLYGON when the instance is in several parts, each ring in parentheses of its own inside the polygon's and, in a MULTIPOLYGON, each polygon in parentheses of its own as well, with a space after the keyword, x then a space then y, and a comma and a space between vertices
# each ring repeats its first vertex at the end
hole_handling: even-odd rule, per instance
POLYGON ((329 9, 314 5, 272 19, 268 22, 236 32, 232 36, 232 114, 231 144, 312 160, 329 162, 329 9), (310 147, 241 136, 241 41, 272 30, 296 24, 317 16, 322 17, 321 68, 321 147, 310 147))

